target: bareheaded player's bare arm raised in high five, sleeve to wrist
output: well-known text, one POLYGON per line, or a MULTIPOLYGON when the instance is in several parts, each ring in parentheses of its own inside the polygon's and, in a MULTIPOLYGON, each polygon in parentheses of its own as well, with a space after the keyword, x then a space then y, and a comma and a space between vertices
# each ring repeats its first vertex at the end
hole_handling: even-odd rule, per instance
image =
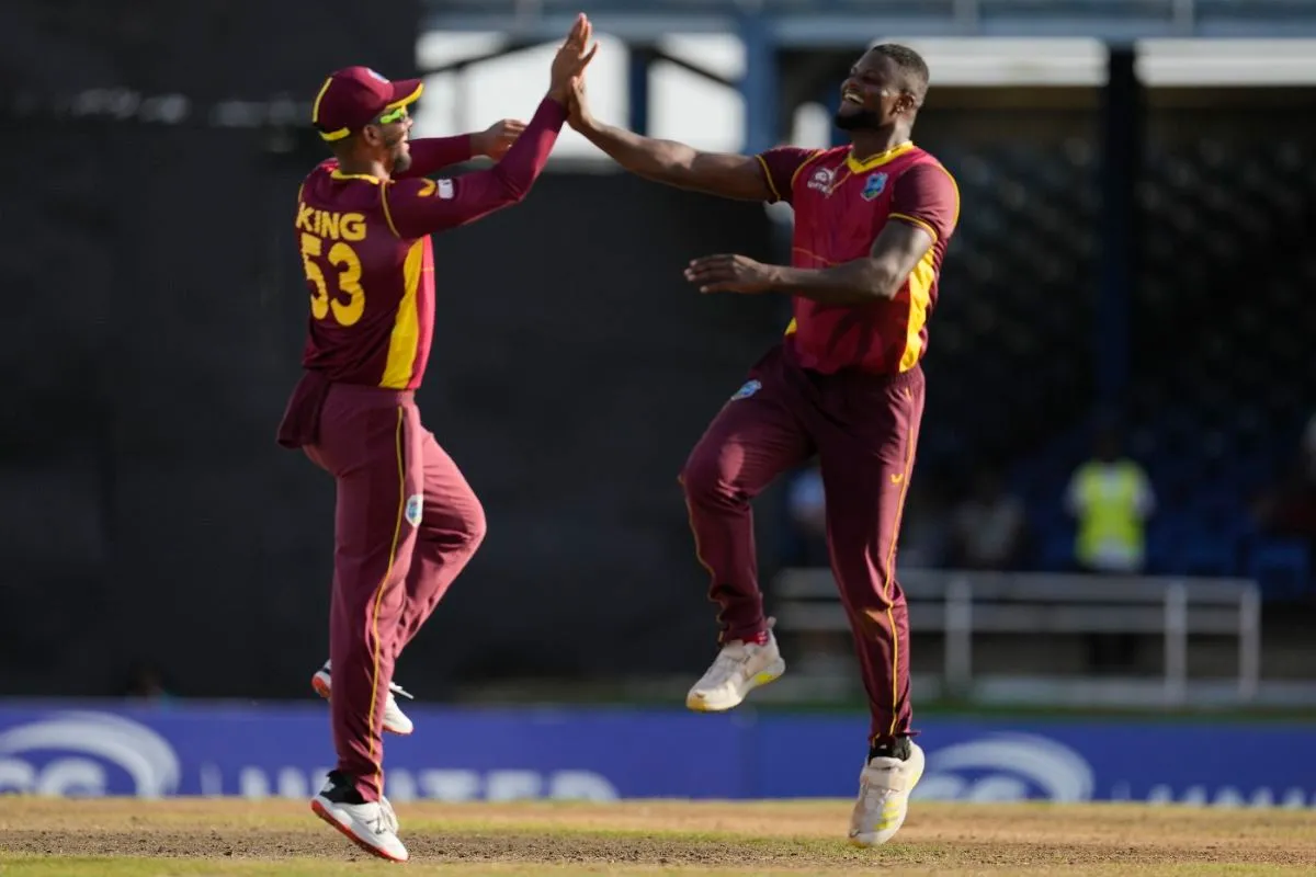
POLYGON ((646 180, 728 199, 766 201, 772 197, 753 156, 700 153, 676 141, 644 137, 600 122, 579 130, 617 164, 646 180))

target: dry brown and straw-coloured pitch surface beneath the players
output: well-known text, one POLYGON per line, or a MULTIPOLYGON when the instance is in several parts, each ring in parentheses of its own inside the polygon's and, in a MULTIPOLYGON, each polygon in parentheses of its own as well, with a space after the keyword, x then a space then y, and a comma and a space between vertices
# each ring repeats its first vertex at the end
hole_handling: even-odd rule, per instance
POLYGON ((850 802, 409 803, 408 865, 363 853, 305 802, 0 797, 0 874, 1300 874, 1316 814, 1128 805, 919 803, 880 849, 850 802))

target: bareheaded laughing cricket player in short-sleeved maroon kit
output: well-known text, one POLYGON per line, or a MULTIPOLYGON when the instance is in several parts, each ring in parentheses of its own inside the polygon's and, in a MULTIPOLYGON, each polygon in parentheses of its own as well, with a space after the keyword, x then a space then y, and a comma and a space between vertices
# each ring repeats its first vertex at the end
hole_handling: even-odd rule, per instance
POLYGON ((920 360, 937 276, 955 230, 950 174, 911 141, 928 66, 911 49, 869 50, 841 85, 836 125, 850 145, 700 153, 597 122, 583 84, 570 124, 640 176, 795 209, 791 266, 744 255, 695 259, 701 293, 792 297, 786 335, 750 369, 682 472, 695 550, 720 613, 717 659, 686 703, 721 711, 786 669, 754 556, 750 500, 815 455, 826 494, 832 572, 850 618, 873 717, 850 840, 886 843, 923 773, 911 739, 909 622, 896 536, 924 406, 920 360))

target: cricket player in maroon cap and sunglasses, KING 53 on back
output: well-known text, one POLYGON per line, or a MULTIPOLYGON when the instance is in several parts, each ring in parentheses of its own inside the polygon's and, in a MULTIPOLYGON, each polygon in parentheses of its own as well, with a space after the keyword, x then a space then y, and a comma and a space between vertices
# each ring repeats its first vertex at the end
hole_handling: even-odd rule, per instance
POLYGON ((338 764, 312 809, 392 861, 408 856, 383 795, 380 736, 411 731, 390 692, 393 664, 484 536, 479 500, 415 402, 434 323, 429 235, 526 196, 566 121, 571 80, 596 50, 591 34, 579 16, 524 129, 504 122, 476 138, 411 142, 408 107, 421 82, 365 67, 329 76, 312 110, 334 158, 297 195, 309 335, 278 435, 337 483, 330 664, 315 686, 329 696, 338 764), (501 160, 428 179, 476 149, 501 160))

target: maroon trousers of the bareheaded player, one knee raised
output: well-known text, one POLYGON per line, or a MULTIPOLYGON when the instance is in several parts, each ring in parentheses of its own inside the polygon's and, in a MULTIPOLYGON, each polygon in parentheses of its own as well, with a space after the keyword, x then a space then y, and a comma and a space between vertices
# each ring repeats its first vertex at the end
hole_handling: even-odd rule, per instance
POLYGON ((895 564, 923 418, 923 369, 822 375, 799 367, 779 344, 750 377, 682 472, 695 550, 712 576, 709 600, 720 606, 721 642, 766 630, 750 500, 816 454, 832 573, 859 656, 871 740, 909 734, 909 615, 895 564))

